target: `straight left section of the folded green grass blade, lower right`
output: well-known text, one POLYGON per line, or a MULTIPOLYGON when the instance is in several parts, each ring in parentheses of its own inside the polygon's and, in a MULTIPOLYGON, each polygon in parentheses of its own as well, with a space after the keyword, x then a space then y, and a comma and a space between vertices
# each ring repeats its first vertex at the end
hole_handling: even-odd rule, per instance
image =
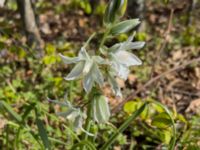
POLYGON ((106 150, 110 147, 110 145, 117 139, 117 136, 119 135, 119 133, 122 133, 130 124, 131 122, 136 119, 146 108, 146 106, 148 105, 148 102, 144 103, 137 111, 135 111, 118 129, 117 132, 115 132, 115 134, 113 134, 110 139, 108 140, 108 142, 106 142, 101 148, 100 150, 106 150))

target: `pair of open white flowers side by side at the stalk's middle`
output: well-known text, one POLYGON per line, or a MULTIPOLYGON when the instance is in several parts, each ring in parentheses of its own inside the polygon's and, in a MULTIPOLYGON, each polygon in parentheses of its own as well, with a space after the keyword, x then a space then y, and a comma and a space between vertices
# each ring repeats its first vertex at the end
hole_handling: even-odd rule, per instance
POLYGON ((129 74, 129 67, 141 65, 141 60, 130 52, 132 49, 140 49, 144 42, 132 42, 133 36, 127 41, 117 43, 108 48, 104 46, 100 56, 90 56, 85 47, 82 47, 77 57, 68 57, 60 54, 65 64, 75 63, 72 71, 65 77, 66 80, 75 80, 83 78, 83 87, 89 93, 92 87, 97 83, 100 87, 104 84, 104 76, 108 78, 113 92, 116 96, 122 96, 120 88, 115 80, 116 77, 126 80, 129 74), (100 70, 100 68, 102 68, 100 70), (105 70, 105 68, 109 68, 105 70), (104 76, 103 76, 104 75, 104 76))

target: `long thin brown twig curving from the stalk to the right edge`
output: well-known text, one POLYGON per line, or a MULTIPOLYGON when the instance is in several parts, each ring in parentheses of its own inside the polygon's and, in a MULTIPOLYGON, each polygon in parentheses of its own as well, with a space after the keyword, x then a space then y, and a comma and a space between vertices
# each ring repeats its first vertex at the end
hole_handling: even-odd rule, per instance
POLYGON ((148 82, 146 82, 142 87, 140 87, 137 91, 135 91, 134 93, 131 93, 130 95, 127 96, 127 98, 125 100, 123 100, 117 107, 115 107, 113 109, 113 113, 116 113, 118 110, 120 110, 120 108, 129 100, 132 100, 134 97, 136 97, 137 94, 139 94, 140 92, 142 92, 143 90, 145 90, 149 85, 151 85, 152 83, 156 82, 157 80, 159 80, 160 78, 176 71, 176 70, 179 70, 179 69, 183 69, 185 68, 186 66, 192 64, 192 63, 195 63, 195 62, 199 62, 200 61, 200 57, 199 58, 195 58, 195 59, 192 59, 182 65, 178 65, 178 66, 175 66, 174 68, 172 69, 169 69, 167 70, 166 72, 160 74, 160 75, 157 75, 156 77, 152 78, 151 80, 149 80, 148 82))

